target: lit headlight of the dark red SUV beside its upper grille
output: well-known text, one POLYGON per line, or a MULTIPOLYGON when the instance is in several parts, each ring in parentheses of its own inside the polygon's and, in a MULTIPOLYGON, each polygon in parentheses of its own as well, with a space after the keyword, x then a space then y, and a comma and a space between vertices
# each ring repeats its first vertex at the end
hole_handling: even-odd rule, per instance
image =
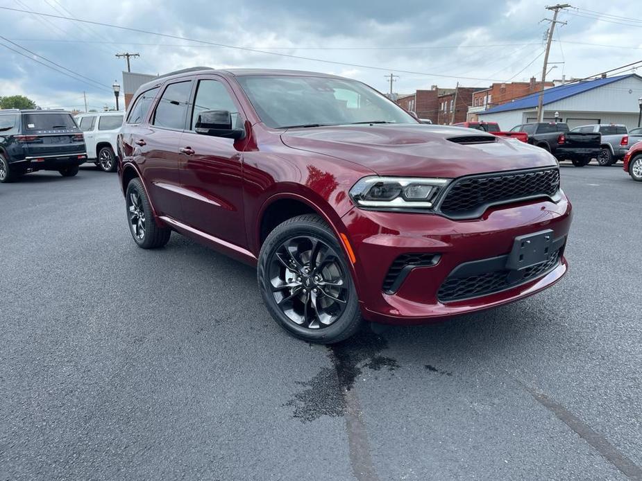
POLYGON ((431 209, 448 182, 450 179, 373 175, 359 180, 350 189, 350 198, 360 207, 431 209))

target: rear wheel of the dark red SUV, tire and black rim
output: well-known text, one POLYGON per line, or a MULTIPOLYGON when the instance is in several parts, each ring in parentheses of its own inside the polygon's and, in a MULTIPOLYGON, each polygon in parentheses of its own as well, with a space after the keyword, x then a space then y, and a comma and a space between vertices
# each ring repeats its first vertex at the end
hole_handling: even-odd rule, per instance
POLYGON ((151 204, 140 179, 133 179, 127 184, 125 204, 129 232, 138 247, 158 249, 167 244, 171 229, 156 225, 151 204))

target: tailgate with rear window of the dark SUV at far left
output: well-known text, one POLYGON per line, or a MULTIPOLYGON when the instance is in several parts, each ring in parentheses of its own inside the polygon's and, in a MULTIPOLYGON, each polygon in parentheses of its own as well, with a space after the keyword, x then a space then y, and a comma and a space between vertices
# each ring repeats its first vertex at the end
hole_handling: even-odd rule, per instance
POLYGON ((85 155, 85 140, 68 112, 24 112, 22 135, 26 158, 85 155))

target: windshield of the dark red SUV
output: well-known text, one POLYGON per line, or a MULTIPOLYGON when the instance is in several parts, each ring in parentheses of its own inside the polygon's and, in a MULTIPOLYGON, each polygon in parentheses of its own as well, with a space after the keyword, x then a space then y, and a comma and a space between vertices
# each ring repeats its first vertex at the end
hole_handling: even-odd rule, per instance
POLYGON ((361 82, 294 76, 238 77, 257 114, 271 128, 350 123, 418 123, 361 82))

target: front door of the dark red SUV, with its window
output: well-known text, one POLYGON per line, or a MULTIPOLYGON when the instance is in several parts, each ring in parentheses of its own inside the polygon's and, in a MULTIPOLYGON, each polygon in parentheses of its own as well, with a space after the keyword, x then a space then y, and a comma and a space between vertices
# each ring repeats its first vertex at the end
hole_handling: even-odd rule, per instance
POLYGON ((242 125, 242 115, 224 80, 205 76, 197 81, 188 130, 180 137, 183 217, 210 236, 244 247, 243 153, 237 148, 243 141, 194 132, 203 110, 228 110, 233 125, 242 125))

